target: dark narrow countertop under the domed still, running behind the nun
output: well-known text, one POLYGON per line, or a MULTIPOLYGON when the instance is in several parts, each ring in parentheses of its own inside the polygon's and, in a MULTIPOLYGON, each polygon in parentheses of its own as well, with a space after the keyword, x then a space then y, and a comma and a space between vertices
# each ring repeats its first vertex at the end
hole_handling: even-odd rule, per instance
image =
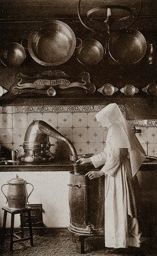
MULTIPOLYGON (((87 169, 95 169, 91 164, 78 165, 67 160, 54 160, 53 162, 46 163, 7 163, 4 164, 3 161, 0 162, 0 172, 58 172, 58 171, 72 171, 77 168, 79 172, 84 172, 87 169)), ((157 170, 157 161, 153 160, 150 162, 145 162, 141 165, 140 170, 157 170)))

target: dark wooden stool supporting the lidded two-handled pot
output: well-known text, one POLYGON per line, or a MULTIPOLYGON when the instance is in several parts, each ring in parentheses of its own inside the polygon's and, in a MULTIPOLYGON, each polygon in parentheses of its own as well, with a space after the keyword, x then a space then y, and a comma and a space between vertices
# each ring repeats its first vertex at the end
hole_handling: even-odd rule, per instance
POLYGON ((13 250, 13 244, 17 243, 18 241, 26 241, 30 240, 31 246, 33 246, 33 233, 32 233, 32 222, 31 222, 31 207, 23 208, 22 210, 10 210, 8 207, 2 207, 2 210, 4 210, 4 217, 3 217, 3 238, 6 233, 6 221, 7 221, 7 212, 11 214, 11 233, 8 234, 10 236, 10 251, 13 250), (23 229, 23 214, 27 212, 28 214, 28 226, 30 231, 30 236, 24 238, 24 229, 23 229), (21 231, 18 231, 14 233, 14 215, 19 214, 20 215, 20 222, 21 222, 21 231), (17 235, 21 234, 21 238, 17 235), (16 239, 14 239, 14 237, 16 239))

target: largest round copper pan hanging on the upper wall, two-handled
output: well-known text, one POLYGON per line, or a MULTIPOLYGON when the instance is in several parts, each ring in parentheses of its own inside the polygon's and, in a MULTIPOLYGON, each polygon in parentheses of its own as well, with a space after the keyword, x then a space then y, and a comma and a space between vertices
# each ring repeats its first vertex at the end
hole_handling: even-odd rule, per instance
POLYGON ((38 30, 31 31, 28 51, 31 57, 44 66, 60 65, 71 58, 76 46, 72 29, 64 22, 52 20, 38 30))

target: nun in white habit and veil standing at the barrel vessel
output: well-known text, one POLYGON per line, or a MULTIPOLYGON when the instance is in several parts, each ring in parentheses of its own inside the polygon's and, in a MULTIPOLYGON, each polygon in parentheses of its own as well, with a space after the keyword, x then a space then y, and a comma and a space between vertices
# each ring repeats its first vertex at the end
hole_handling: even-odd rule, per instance
POLYGON ((96 120, 109 129, 105 149, 91 158, 80 158, 77 163, 102 166, 100 171, 86 174, 90 179, 105 174, 105 246, 140 247, 134 180, 145 152, 116 103, 104 107, 96 114, 96 120))

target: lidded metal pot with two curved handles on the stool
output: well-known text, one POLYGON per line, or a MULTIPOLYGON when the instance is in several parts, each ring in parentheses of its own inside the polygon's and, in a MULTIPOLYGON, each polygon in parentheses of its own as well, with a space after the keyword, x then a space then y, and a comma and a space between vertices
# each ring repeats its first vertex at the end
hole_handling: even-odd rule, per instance
POLYGON ((28 183, 24 181, 24 179, 18 178, 18 176, 16 176, 16 178, 10 179, 8 181, 8 184, 2 185, 1 191, 3 195, 7 198, 8 208, 10 210, 21 210, 23 208, 27 208, 28 197, 31 195, 34 189, 33 185, 31 184, 32 191, 28 195, 26 189, 27 184, 31 183, 28 183), (4 194, 2 189, 5 185, 8 185, 7 196, 4 194))

